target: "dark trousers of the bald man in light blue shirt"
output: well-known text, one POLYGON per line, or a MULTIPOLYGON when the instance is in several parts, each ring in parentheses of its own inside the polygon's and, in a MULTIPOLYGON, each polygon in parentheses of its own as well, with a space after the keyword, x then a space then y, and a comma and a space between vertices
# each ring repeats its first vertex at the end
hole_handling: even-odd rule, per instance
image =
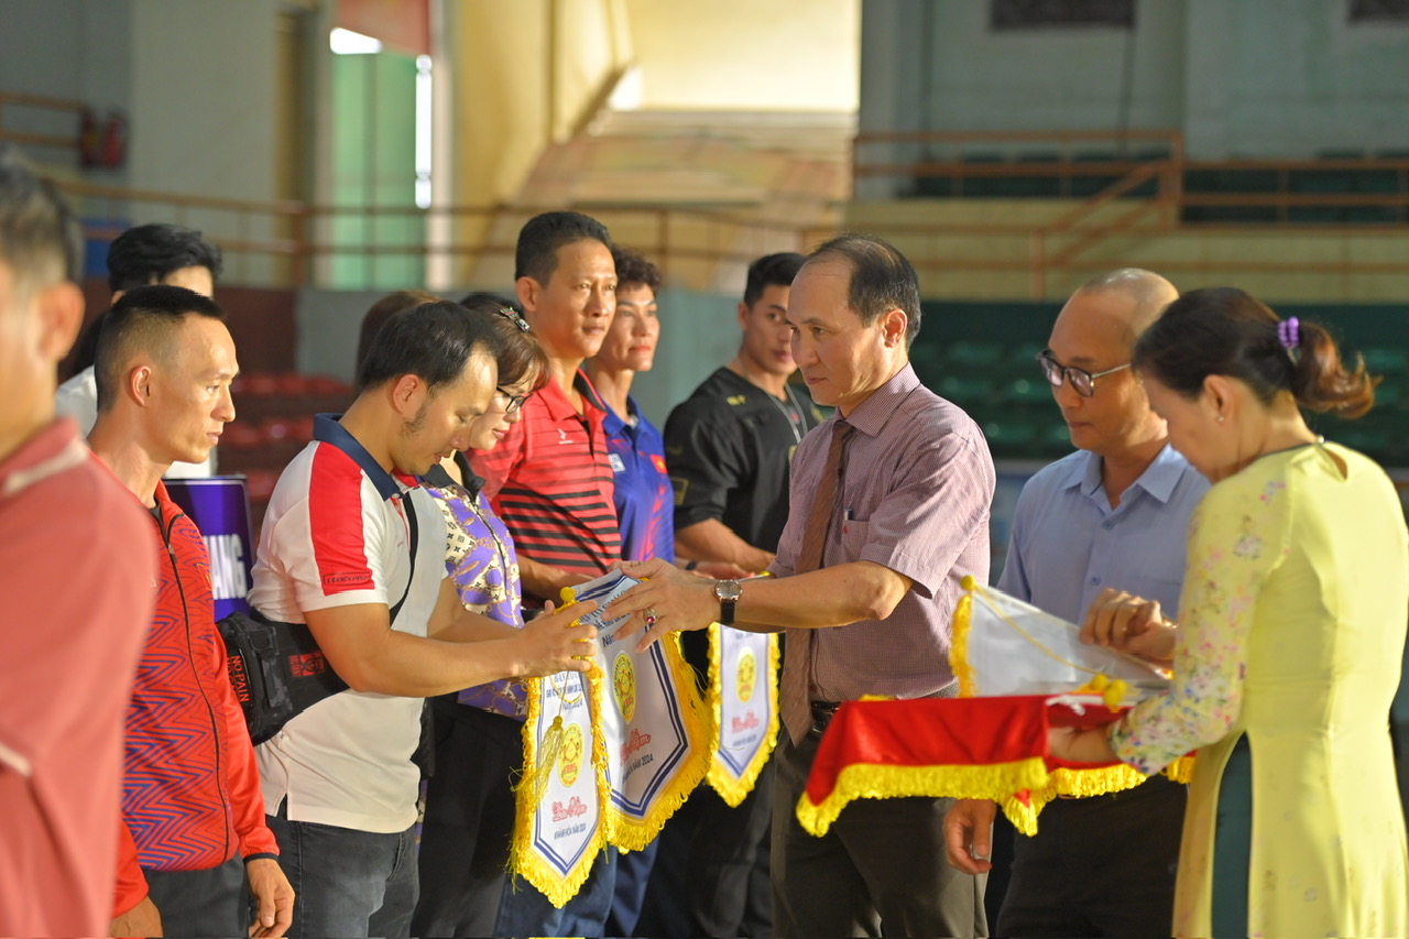
POLYGON ((1168 936, 1185 787, 1144 785, 1055 799, 1017 835, 998 935, 1168 936))

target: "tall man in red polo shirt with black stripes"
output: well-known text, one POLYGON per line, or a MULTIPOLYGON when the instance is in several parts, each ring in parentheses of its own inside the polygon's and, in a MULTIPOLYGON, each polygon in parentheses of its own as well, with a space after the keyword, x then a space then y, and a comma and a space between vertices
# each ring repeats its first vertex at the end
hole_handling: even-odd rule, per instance
MULTIPOLYGON (((519 233, 514 289, 548 354, 550 381, 523 422, 472 465, 519 550, 524 599, 558 599, 564 587, 604 574, 621 557, 606 406, 582 371, 616 314, 616 264, 606 226, 548 211, 519 233)), ((562 909, 528 884, 510 884, 495 935, 599 936, 612 907, 616 853, 607 852, 562 909)))

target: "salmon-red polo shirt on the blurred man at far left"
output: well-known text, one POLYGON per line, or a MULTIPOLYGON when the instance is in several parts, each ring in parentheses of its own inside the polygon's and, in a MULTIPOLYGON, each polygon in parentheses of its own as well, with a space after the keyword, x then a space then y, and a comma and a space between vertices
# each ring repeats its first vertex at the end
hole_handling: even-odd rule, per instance
POLYGON ((0 936, 107 932, 151 529, 68 417, 0 462, 0 936))

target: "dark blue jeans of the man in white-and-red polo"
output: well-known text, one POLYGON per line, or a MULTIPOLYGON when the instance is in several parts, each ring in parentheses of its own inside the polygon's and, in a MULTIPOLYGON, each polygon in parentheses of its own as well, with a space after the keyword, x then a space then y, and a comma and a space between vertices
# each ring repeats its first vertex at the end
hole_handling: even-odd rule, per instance
POLYGON ((289 939, 411 932, 416 828, 378 835, 266 815, 294 891, 289 939))

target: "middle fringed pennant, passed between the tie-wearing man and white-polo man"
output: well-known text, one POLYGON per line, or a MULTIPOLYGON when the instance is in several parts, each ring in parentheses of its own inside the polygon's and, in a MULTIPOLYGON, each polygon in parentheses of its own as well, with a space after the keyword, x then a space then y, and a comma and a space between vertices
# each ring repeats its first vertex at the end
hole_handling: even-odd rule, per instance
MULTIPOLYGON (((614 571, 573 588, 578 602, 606 606, 641 581, 614 571)), ((681 654, 679 637, 666 636, 644 653, 640 633, 619 639, 624 618, 597 626, 599 651, 592 673, 595 716, 602 739, 602 771, 610 794, 607 840, 621 850, 641 850, 689 798, 709 767, 709 726, 695 677, 681 654)))

